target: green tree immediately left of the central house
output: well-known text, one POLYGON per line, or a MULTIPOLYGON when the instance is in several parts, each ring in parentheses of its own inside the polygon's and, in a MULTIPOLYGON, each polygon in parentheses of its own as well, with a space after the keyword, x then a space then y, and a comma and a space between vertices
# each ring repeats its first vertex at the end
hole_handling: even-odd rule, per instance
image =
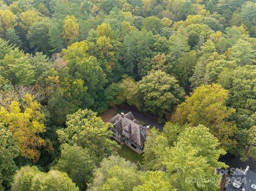
POLYGON ((78 110, 67 115, 67 128, 57 131, 60 143, 77 144, 95 156, 98 164, 103 157, 109 156, 118 147, 112 137, 111 123, 105 123, 91 110, 78 110))

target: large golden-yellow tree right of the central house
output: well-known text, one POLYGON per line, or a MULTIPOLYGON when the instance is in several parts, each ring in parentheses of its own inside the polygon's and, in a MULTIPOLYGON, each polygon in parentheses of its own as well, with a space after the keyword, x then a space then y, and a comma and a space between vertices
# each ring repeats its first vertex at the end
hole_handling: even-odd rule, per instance
POLYGON ((173 122, 193 126, 203 124, 219 139, 221 147, 226 151, 234 151, 236 140, 234 134, 237 130, 233 122, 227 119, 235 113, 235 109, 226 106, 228 91, 220 85, 200 86, 186 97, 186 101, 178 105, 172 115, 173 122))

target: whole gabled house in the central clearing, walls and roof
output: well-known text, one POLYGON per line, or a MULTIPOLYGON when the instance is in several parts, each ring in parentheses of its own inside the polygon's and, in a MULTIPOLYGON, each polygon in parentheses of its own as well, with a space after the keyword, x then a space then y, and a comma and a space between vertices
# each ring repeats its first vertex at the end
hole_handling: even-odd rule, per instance
POLYGON ((126 144, 139 154, 143 152, 149 126, 142 127, 132 112, 118 113, 109 122, 113 124, 111 131, 117 142, 126 144))

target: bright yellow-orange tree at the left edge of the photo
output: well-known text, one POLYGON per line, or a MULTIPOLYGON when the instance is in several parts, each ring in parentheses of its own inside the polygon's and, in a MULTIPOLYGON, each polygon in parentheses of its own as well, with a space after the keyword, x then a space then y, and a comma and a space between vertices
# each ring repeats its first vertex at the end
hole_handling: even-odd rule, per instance
POLYGON ((41 104, 35 101, 34 96, 26 94, 23 104, 14 101, 8 109, 1 107, 0 123, 3 123, 12 132, 17 140, 20 155, 34 162, 39 159, 39 149, 45 146, 40 133, 45 131, 45 117, 41 104))

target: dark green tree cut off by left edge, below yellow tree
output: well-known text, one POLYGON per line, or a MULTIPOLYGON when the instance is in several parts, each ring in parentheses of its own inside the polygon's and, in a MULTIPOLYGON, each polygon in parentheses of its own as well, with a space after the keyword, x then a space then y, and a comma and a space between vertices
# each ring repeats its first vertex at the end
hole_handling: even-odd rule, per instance
POLYGON ((14 158, 19 155, 17 142, 13 138, 11 132, 7 130, 3 124, 0 124, 0 179, 1 186, 6 190, 10 188, 12 177, 17 170, 14 158))

